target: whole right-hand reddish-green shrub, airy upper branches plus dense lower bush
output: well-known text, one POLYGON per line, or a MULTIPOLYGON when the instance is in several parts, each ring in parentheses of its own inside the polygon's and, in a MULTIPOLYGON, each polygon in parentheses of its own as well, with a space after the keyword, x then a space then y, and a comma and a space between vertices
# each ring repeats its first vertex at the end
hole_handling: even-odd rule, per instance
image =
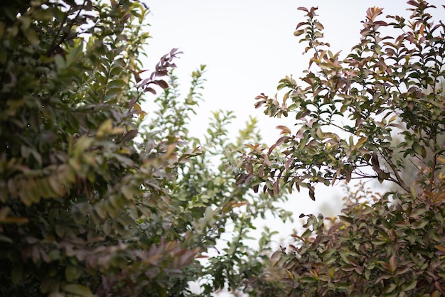
MULTIPOLYGON (((330 224, 307 217, 296 244, 272 256, 286 269, 289 296, 440 296, 445 293, 444 52, 445 26, 427 1, 408 1, 411 16, 366 12, 360 43, 343 60, 323 41, 316 8, 294 33, 312 52, 301 85, 280 81, 281 101, 262 94, 256 107, 277 126, 272 147, 252 146, 241 178, 258 191, 309 189, 338 180, 377 179, 399 190, 379 196, 360 183, 343 214, 330 224), (387 35, 385 35, 387 34, 387 35), (399 144, 393 138, 399 135, 399 144), (414 185, 402 178, 404 160, 417 168, 414 185)), ((442 8, 440 8, 442 9, 442 8)))

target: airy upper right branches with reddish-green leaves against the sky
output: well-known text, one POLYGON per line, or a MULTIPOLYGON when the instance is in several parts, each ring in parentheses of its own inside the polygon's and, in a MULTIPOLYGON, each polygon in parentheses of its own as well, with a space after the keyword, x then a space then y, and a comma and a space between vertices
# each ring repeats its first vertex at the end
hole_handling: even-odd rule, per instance
POLYGON ((282 137, 268 153, 254 148, 245 156, 246 180, 272 194, 309 188, 313 199, 317 183, 363 178, 388 180, 409 192, 400 176, 409 158, 422 173, 422 185, 440 191, 431 187, 442 171, 434 160, 444 153, 444 25, 427 12, 434 6, 409 5, 409 21, 382 21, 382 9, 368 9, 360 43, 344 59, 323 42, 316 8, 300 8, 307 21, 295 35, 308 44, 305 53, 313 53, 302 85, 286 77, 278 86, 285 91, 281 102, 262 94, 256 104, 270 117, 294 116, 296 127, 277 126, 282 137))

